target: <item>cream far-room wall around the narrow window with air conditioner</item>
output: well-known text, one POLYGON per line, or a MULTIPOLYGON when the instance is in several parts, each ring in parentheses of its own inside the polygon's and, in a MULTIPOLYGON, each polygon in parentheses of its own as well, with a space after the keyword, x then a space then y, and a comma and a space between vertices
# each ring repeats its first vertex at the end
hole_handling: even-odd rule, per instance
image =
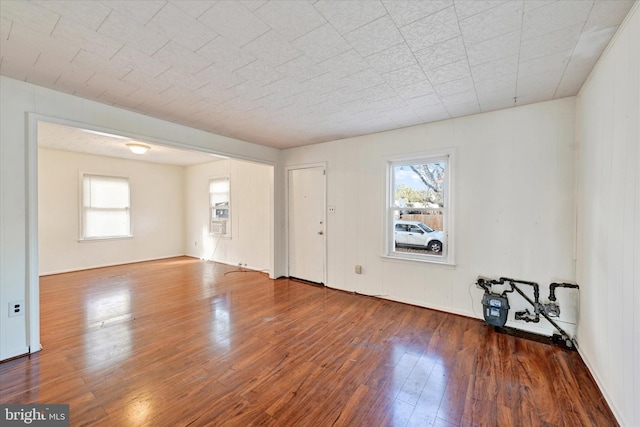
POLYGON ((187 255, 273 273, 272 166, 233 159, 189 166, 185 197, 187 255), (231 185, 230 238, 209 234, 209 180, 224 176, 231 185))

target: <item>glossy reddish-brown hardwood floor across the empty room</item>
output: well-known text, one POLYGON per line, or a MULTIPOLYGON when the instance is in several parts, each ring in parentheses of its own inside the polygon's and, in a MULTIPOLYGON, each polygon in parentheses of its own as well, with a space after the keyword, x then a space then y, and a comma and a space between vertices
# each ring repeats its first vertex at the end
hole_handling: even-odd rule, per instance
POLYGON ((42 277, 0 402, 71 425, 617 425, 576 352, 483 322, 173 258, 42 277))

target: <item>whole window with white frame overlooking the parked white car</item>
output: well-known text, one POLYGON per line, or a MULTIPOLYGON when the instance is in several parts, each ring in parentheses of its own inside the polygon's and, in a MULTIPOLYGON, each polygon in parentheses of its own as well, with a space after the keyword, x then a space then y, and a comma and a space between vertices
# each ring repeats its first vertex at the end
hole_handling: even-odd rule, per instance
POLYGON ((388 162, 386 255, 451 264, 451 153, 388 162))

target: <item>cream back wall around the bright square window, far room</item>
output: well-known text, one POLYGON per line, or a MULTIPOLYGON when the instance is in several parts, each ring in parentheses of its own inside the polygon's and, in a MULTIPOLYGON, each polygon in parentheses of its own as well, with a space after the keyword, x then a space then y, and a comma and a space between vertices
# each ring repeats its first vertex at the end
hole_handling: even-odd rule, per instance
POLYGON ((183 184, 181 166, 40 148, 40 274, 183 255, 183 184), (78 240, 81 172, 129 178, 132 238, 78 240))

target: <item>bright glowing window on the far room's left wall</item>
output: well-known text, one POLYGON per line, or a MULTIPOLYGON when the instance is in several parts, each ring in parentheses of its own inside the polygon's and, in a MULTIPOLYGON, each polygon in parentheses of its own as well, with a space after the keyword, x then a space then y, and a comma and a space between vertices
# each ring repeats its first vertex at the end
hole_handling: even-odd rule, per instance
POLYGON ((81 240, 131 237, 129 179, 82 175, 81 240))

